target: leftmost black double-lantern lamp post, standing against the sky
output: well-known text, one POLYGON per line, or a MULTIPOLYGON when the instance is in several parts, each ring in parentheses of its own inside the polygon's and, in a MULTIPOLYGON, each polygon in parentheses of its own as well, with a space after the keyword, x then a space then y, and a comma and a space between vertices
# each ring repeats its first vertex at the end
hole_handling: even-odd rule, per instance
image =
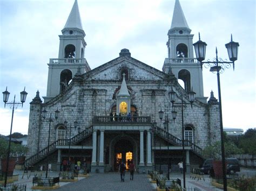
POLYGON ((6 90, 3 92, 4 108, 5 108, 6 104, 10 104, 10 108, 12 109, 12 114, 11 114, 11 130, 10 130, 10 137, 9 137, 9 145, 8 145, 8 151, 7 151, 6 173, 4 176, 4 187, 5 188, 6 188, 8 168, 9 168, 10 149, 11 149, 11 131, 12 131, 12 122, 14 121, 14 109, 17 109, 19 104, 22 104, 22 107, 23 107, 23 103, 26 101, 26 95, 28 95, 28 93, 26 93, 25 88, 24 88, 24 90, 21 92, 21 103, 15 102, 15 95, 14 95, 14 101, 8 103, 9 95, 10 95, 10 93, 9 93, 9 91, 7 91, 7 87, 6 87, 6 90))

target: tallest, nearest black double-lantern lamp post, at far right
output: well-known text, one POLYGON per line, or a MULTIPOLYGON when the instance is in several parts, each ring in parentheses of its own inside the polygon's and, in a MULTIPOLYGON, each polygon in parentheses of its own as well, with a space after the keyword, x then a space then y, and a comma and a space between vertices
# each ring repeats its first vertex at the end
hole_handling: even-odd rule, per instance
POLYGON ((217 82, 218 82, 218 96, 219 96, 219 117, 220 117, 220 139, 221 139, 221 160, 222 160, 222 169, 223 169, 223 186, 224 190, 227 190, 227 176, 226 176, 226 165, 225 165, 225 148, 224 148, 224 136, 223 136, 223 118, 222 118, 222 108, 221 108, 221 92, 220 92, 220 73, 224 73, 225 68, 230 68, 231 63, 233 63, 233 70, 234 70, 234 61, 237 60, 238 56, 238 47, 239 43, 235 43, 232 39, 231 34, 231 41, 227 43, 225 47, 227 48, 229 61, 224 61, 221 58, 218 58, 218 51, 216 47, 216 57, 213 61, 205 60, 205 53, 206 53, 206 46, 207 44, 200 40, 200 33, 199 33, 199 40, 197 43, 193 44, 197 60, 200 61, 201 68, 203 69, 203 64, 205 63, 205 67, 210 67, 210 72, 217 73, 217 82))

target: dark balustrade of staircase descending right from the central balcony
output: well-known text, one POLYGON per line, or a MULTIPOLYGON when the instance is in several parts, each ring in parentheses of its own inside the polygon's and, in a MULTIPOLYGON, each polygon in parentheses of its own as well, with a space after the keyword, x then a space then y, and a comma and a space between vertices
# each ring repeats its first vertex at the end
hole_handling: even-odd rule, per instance
MULTIPOLYGON (((152 128, 153 133, 155 133, 158 137, 164 139, 167 143, 170 143, 174 146, 182 146, 183 141, 179 139, 178 137, 175 137, 171 135, 169 132, 165 131, 164 129, 158 128, 158 127, 153 127, 152 128)), ((191 151, 195 154, 198 155, 198 157, 203 159, 202 155, 202 148, 193 144, 192 142, 188 140, 184 140, 184 145, 190 146, 191 151)))

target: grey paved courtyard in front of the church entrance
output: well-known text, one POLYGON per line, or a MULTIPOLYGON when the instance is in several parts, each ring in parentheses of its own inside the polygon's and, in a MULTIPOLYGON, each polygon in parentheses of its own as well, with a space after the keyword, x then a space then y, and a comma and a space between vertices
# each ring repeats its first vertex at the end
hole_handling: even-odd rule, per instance
MULTIPOLYGON (((256 169, 241 168, 241 172, 256 173, 256 169)), ((44 176, 45 172, 35 172, 37 175, 44 176)), ((18 181, 15 183, 26 184, 27 189, 31 190, 32 177, 34 173, 28 178, 24 176, 23 171, 15 170, 14 174, 18 174, 18 181)), ((30 173, 29 173, 30 174, 30 173)), ((58 176, 58 172, 49 172, 49 176, 58 176)), ((179 178, 183 182, 183 175, 177 172, 170 173, 171 179, 179 178)), ((197 188, 201 191, 217 191, 221 190, 211 185, 208 175, 204 175, 204 179, 194 180, 189 174, 186 175, 186 188, 197 188)), ((130 180, 130 173, 125 173, 125 181, 121 182, 120 174, 117 172, 111 173, 91 173, 89 178, 78 178, 77 182, 60 182, 60 188, 57 190, 156 190, 156 183, 151 183, 146 174, 134 174, 134 180, 130 180)))

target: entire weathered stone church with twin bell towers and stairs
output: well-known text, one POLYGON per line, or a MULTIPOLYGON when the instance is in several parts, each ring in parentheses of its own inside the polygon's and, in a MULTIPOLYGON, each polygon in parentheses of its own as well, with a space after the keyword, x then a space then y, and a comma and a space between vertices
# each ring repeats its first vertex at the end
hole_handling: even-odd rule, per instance
POLYGON ((203 95, 203 75, 193 58, 190 32, 176 0, 163 72, 132 58, 128 49, 91 69, 84 58, 85 32, 75 1, 59 36, 58 58, 48 63, 44 102, 37 92, 30 103, 25 164, 50 162, 58 170, 64 159, 72 164, 80 160, 91 172, 116 171, 120 160, 126 164, 133 160, 139 172, 177 165, 183 158, 183 123, 181 105, 176 103, 190 103, 188 93, 193 87, 192 107, 183 106, 184 154, 187 172, 198 165, 201 149, 220 139, 219 107, 213 93, 208 102, 203 95), (170 91, 177 94, 174 104, 170 91), (159 119, 160 110, 163 119, 159 119), (174 121, 173 110, 177 111, 174 121))

